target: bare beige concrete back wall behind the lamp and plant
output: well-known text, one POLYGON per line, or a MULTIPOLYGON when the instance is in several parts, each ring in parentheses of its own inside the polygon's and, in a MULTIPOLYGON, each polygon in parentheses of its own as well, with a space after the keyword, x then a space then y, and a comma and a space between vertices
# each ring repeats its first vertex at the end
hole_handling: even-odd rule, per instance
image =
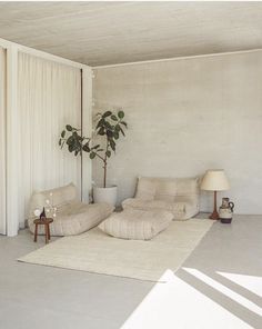
MULTIPOLYGON (((129 122, 109 167, 119 201, 133 196, 138 176, 223 168, 232 186, 224 195, 236 212, 262 213, 262 52, 100 68, 94 74, 94 111, 122 107, 129 122)), ((93 180, 102 180, 95 162, 93 180)), ((201 199, 209 210, 211 196, 201 199)))

